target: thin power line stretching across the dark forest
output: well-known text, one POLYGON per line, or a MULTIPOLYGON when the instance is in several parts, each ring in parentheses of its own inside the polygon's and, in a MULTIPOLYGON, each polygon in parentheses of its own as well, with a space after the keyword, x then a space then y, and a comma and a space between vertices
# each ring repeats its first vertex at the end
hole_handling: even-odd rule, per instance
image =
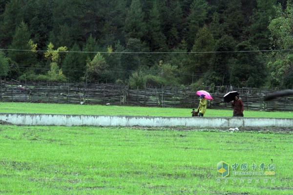
MULTIPOLYGON (((1 51, 20 51, 33 52, 24 49, 0 49, 1 51)), ((101 51, 50 51, 60 53, 101 53, 101 54, 208 54, 208 53, 246 53, 246 52, 276 52, 276 51, 293 51, 293 49, 276 49, 276 50, 248 50, 248 51, 206 51, 206 52, 101 52, 101 51)), ((49 52, 47 50, 36 50, 35 52, 49 52)))

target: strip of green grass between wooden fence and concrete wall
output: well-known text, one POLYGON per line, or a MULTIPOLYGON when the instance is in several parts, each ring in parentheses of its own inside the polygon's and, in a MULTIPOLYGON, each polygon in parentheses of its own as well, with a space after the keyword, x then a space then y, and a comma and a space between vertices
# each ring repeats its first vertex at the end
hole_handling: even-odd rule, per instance
MULTIPOLYGON (((196 108, 195 108, 196 109, 196 108)), ((157 108, 134 106, 103 106, 80 104, 46 104, 0 102, 1 113, 46 113, 46 114, 76 114, 76 115, 131 115, 160 117, 190 117, 192 108, 157 108)), ((231 117, 232 108, 226 110, 208 109, 205 117, 231 117)), ((275 117, 292 118, 292 112, 266 112, 245 110, 245 117, 275 117)))

